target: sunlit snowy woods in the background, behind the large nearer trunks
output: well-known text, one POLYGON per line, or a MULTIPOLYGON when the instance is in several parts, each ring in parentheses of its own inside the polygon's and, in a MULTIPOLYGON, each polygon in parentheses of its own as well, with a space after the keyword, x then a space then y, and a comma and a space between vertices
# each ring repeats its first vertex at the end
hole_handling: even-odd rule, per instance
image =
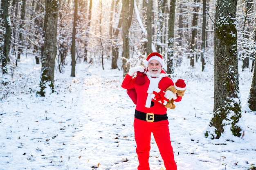
MULTIPOLYGON (((47 35, 44 30, 45 1, 1 2, 1 56, 6 55, 5 47, 9 45, 7 58, 9 65, 12 65, 10 71, 18 65, 22 53, 34 54, 39 64, 43 56, 44 36, 47 35), (7 9, 8 15, 5 14, 7 9), (8 37, 9 44, 4 43, 8 37)), ((173 67, 180 65, 182 56, 191 60, 191 67, 194 62, 202 62, 202 71, 204 63, 213 57, 207 53, 213 50, 214 20, 218 17, 215 16, 216 1, 58 0, 56 9, 56 65, 59 72, 63 72, 63 67, 69 64, 66 57, 73 53, 76 63, 100 62, 103 69, 103 59, 111 59, 112 69, 125 68, 124 73, 126 68, 143 61, 152 51, 168 57, 170 51, 173 53, 173 61, 167 63, 168 73, 173 73, 173 67), (170 14, 174 18, 169 17, 170 14), (123 28, 126 20, 128 25, 125 27, 128 29, 123 28), (128 46, 123 44, 123 35, 127 34, 123 32, 126 30, 128 46), (169 37, 174 39, 171 47, 169 37), (75 45, 74 52, 72 44, 75 45), (128 57, 124 50, 127 47, 128 57), (118 65, 118 60, 122 61, 121 65, 118 65), (169 69, 170 65, 172 68, 169 69)), ((243 60, 243 68, 252 69, 254 62, 249 65, 249 60, 254 60, 255 55, 255 1, 238 0, 235 16, 238 59, 243 60)))

